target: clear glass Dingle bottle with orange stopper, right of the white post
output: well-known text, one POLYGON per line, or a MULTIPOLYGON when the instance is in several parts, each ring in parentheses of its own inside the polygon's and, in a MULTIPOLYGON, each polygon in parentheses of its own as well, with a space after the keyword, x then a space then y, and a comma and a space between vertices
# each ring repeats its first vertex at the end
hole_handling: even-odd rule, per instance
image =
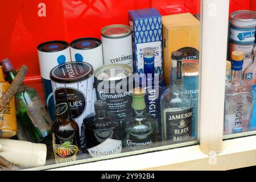
POLYGON ((232 52, 232 73, 225 87, 224 134, 249 131, 254 94, 251 86, 242 80, 243 52, 232 52))

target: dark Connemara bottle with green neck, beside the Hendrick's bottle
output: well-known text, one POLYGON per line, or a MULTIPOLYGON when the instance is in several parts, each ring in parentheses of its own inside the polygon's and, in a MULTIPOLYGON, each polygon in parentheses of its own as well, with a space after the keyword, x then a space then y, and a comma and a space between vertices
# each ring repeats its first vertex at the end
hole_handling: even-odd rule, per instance
POLYGON ((152 115, 146 113, 145 93, 146 91, 142 88, 132 90, 132 113, 123 119, 122 126, 127 132, 127 137, 123 139, 123 146, 131 150, 149 148, 151 144, 158 141, 158 123, 152 115))

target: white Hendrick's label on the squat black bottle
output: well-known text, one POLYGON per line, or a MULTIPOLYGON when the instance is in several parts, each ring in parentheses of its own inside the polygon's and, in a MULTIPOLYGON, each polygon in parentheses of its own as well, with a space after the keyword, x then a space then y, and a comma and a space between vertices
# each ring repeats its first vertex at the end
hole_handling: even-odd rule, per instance
POLYGON ((108 138, 101 144, 88 148, 87 150, 93 158, 104 155, 119 154, 122 151, 122 141, 108 138))

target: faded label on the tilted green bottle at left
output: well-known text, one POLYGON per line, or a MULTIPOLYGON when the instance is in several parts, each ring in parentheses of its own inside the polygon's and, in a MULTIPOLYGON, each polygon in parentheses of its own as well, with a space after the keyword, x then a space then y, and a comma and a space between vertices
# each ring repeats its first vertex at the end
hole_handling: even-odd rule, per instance
POLYGON ((41 133, 51 131, 52 119, 49 117, 47 110, 43 107, 39 97, 32 98, 27 107, 27 114, 31 122, 41 133))

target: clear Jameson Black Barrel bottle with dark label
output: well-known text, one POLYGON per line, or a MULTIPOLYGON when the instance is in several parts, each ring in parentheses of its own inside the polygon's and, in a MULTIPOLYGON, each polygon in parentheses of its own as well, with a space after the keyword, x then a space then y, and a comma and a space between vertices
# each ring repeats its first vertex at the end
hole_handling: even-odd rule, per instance
POLYGON ((172 52, 171 58, 170 88, 161 97, 162 139, 183 141, 192 134, 193 98, 182 83, 183 53, 172 52))

